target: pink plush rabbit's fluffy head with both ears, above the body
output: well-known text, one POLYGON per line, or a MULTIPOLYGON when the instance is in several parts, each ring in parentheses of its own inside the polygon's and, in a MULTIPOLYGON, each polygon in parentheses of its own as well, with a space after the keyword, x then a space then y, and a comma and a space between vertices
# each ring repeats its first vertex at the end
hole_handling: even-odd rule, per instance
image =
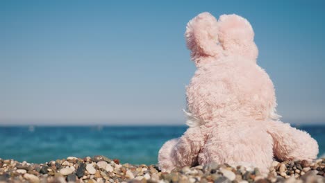
POLYGON ((199 123, 278 118, 274 85, 256 64, 258 49, 247 19, 217 20, 203 12, 188 23, 185 37, 197 66, 187 87, 189 116, 199 123))

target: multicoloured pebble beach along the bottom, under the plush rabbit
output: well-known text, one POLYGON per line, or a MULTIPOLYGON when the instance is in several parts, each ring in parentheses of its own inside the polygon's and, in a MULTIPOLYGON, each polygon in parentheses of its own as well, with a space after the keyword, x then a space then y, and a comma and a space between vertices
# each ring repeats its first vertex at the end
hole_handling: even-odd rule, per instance
POLYGON ((119 159, 101 155, 67 157, 44 164, 0 159, 0 182, 325 182, 325 158, 314 162, 274 161, 266 177, 258 168, 216 163, 162 173, 156 165, 121 164, 119 159))

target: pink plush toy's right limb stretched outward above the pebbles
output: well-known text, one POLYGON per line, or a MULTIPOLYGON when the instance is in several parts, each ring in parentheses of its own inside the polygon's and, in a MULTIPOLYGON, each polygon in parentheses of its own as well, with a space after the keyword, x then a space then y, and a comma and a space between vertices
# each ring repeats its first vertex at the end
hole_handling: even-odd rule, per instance
POLYGON ((292 128, 288 123, 268 121, 267 132, 273 138, 274 156, 282 161, 312 160, 317 157, 318 144, 307 132, 292 128))

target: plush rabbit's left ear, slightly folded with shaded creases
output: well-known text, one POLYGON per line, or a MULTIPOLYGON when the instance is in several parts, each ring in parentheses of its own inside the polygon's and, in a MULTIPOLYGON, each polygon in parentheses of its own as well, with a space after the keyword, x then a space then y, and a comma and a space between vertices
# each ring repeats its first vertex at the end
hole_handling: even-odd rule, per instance
POLYGON ((209 12, 202 12, 188 22, 185 32, 191 58, 199 66, 202 58, 217 58, 222 54, 222 46, 218 43, 217 19, 209 12))

